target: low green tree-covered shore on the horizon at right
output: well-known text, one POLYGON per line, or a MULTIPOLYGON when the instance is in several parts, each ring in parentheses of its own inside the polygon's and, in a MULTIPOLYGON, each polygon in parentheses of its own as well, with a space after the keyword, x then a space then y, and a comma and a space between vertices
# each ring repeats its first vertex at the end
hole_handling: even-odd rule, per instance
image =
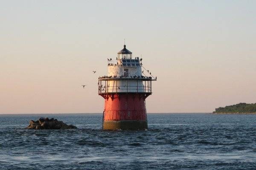
POLYGON ((213 113, 256 113, 256 103, 239 103, 224 108, 219 107, 213 113))

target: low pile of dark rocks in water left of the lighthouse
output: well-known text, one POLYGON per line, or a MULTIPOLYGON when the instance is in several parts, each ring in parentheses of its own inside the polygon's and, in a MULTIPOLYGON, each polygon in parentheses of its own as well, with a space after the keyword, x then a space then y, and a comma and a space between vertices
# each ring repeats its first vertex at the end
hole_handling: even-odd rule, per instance
POLYGON ((49 119, 47 118, 39 118, 37 121, 30 120, 29 126, 26 129, 76 129, 77 127, 74 125, 67 125, 62 121, 58 121, 57 119, 49 119))

